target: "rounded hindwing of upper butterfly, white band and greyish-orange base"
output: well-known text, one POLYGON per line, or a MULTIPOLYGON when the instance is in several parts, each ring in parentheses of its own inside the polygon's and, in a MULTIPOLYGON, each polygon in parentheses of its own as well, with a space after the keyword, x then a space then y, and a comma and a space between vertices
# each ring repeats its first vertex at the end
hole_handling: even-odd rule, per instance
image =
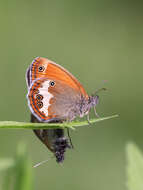
POLYGON ((32 114, 39 121, 49 122, 73 120, 82 94, 63 81, 41 78, 32 83, 27 97, 32 114))

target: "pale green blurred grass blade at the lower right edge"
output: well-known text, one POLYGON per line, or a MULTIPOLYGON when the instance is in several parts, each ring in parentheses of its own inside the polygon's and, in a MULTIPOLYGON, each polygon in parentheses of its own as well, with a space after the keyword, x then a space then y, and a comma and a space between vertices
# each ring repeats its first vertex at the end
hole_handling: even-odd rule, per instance
POLYGON ((133 143, 127 145, 127 187, 143 190, 143 154, 133 143))

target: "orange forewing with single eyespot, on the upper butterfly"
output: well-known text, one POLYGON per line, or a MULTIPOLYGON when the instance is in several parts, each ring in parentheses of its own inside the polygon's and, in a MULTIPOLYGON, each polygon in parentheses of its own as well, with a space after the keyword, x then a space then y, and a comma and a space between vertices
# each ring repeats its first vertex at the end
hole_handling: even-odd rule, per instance
POLYGON ((66 83, 71 88, 88 97, 80 82, 66 69, 46 58, 37 57, 27 70, 27 85, 39 78, 52 78, 66 83))

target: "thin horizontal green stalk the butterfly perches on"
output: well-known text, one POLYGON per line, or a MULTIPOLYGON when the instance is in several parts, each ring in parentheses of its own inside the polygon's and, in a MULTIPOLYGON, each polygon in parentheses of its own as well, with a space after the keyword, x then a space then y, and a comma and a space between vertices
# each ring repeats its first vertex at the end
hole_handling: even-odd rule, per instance
MULTIPOLYGON (((118 115, 91 119, 90 123, 95 124, 96 122, 112 119, 115 117, 118 117, 118 115)), ((75 129, 76 127, 87 126, 87 125, 89 125, 87 121, 73 121, 73 122, 64 122, 64 123, 26 123, 26 122, 17 122, 17 121, 0 121, 0 129, 57 129, 57 128, 75 129)))

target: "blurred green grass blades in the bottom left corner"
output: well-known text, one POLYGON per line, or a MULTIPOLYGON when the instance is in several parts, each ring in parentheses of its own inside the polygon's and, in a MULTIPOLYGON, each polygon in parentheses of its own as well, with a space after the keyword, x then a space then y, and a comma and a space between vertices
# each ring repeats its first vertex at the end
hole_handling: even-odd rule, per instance
POLYGON ((15 159, 0 159, 0 174, 3 174, 3 190, 32 190, 32 164, 25 144, 18 146, 15 159))

